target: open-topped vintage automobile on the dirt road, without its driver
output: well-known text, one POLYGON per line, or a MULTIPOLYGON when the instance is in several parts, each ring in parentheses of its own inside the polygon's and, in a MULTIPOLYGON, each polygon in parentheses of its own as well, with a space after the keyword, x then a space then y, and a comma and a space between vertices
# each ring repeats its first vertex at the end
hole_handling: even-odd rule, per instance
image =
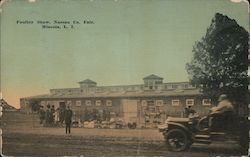
POLYGON ((249 145, 248 120, 237 115, 168 117, 158 128, 170 151, 184 151, 193 143, 210 144, 215 141, 238 142, 244 151, 249 145))

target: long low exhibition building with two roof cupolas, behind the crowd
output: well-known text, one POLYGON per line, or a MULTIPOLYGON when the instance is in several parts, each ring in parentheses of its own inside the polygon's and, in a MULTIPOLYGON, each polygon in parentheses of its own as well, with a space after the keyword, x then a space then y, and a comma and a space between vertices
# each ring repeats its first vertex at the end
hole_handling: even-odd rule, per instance
POLYGON ((120 117, 125 123, 136 122, 140 126, 156 125, 167 116, 183 116, 186 106, 192 106, 199 115, 206 115, 211 108, 211 100, 189 82, 164 83, 156 75, 143 78, 143 82, 97 86, 86 79, 78 82, 79 88, 50 89, 47 95, 21 98, 20 105, 23 110, 30 110, 31 101, 45 107, 48 104, 55 108, 71 106, 76 120, 91 119, 88 114, 92 113, 102 120, 120 117))

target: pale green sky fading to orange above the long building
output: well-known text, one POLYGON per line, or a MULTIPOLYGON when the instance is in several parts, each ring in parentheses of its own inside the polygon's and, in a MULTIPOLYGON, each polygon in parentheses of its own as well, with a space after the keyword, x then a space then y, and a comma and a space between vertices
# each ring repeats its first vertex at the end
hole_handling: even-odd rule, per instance
POLYGON ((0 11, 1 92, 17 108, 22 97, 87 78, 100 86, 142 84, 151 74, 188 81, 192 47, 216 12, 248 29, 247 4, 230 0, 6 0, 0 11))

